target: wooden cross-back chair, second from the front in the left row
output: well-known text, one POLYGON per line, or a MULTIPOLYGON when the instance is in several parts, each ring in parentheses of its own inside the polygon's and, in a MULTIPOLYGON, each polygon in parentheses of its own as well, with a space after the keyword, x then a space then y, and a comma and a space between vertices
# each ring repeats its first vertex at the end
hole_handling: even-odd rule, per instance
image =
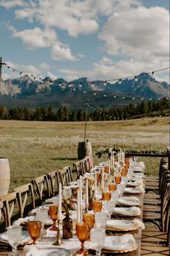
POLYGON ((27 216, 30 210, 35 208, 35 195, 31 183, 13 189, 17 193, 20 216, 27 216))

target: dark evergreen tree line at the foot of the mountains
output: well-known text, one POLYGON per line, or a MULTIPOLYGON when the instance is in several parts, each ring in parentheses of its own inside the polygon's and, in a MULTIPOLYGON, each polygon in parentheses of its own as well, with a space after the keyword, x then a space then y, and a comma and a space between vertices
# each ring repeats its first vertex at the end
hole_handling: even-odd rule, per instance
MULTIPOLYGON (((89 121, 106 121, 135 119, 144 116, 167 116, 169 115, 169 99, 162 98, 159 101, 142 101, 138 104, 130 103, 128 106, 97 108, 91 110, 89 106, 89 121)), ((0 106, 0 119, 30 120, 30 121, 85 121, 86 109, 70 109, 68 106, 61 106, 54 110, 51 106, 45 108, 22 108, 14 107, 7 109, 0 106)))

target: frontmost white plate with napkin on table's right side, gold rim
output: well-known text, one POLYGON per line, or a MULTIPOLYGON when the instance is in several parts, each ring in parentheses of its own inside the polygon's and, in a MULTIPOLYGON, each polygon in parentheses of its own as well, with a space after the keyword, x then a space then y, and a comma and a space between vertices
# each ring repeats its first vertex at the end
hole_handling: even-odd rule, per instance
POLYGON ((132 234, 122 236, 106 236, 103 250, 112 250, 116 252, 130 252, 138 247, 132 234))

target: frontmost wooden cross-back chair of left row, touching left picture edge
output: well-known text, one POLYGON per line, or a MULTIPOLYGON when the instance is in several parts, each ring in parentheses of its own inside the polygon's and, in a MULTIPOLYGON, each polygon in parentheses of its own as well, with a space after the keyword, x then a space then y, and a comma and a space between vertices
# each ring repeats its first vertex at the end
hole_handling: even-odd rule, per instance
POLYGON ((13 221, 21 217, 17 193, 11 192, 7 195, 1 196, 0 199, 4 202, 5 225, 11 226, 13 221))

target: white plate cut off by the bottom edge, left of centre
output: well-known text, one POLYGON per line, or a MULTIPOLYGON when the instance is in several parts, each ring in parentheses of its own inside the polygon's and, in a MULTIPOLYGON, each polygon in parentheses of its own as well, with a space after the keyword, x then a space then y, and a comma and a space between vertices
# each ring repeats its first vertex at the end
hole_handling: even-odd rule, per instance
POLYGON ((25 256, 71 256, 72 252, 64 248, 30 249, 25 256))

